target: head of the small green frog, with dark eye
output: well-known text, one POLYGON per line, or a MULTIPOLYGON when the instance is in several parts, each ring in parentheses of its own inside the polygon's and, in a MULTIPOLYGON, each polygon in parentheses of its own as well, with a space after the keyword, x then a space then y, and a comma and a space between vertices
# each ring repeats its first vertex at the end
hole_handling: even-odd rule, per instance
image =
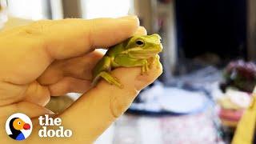
POLYGON ((125 49, 134 58, 150 58, 162 51, 161 37, 158 34, 135 35, 127 40, 125 49))

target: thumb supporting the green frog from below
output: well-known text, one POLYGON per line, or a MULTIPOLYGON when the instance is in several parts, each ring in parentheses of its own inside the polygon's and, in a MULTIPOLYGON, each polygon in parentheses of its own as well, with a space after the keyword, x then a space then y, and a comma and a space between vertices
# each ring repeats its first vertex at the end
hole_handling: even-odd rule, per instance
POLYGON ((73 136, 68 141, 78 141, 73 138, 86 138, 81 141, 94 142, 116 118, 127 110, 138 92, 162 74, 162 65, 156 59, 148 74, 141 75, 139 67, 118 68, 111 74, 122 82, 124 85, 122 89, 102 80, 59 115, 63 125, 73 130, 73 136))

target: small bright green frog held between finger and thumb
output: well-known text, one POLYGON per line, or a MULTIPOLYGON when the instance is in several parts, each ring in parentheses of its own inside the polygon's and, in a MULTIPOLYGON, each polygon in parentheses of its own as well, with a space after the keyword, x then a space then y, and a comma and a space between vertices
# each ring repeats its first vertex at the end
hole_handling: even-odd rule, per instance
POLYGON ((92 85, 95 86, 99 79, 103 78, 111 85, 123 88, 118 78, 110 74, 111 70, 118 67, 140 66, 142 67, 141 74, 147 74, 152 58, 159 59, 158 53, 161 51, 161 37, 158 34, 134 35, 127 38, 125 41, 111 46, 94 66, 92 85))

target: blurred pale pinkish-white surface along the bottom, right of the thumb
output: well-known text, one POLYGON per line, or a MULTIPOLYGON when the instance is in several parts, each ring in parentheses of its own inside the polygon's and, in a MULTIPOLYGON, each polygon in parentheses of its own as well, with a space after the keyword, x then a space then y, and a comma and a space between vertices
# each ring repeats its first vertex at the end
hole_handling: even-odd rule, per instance
POLYGON ((114 123, 113 144, 169 144, 220 142, 208 112, 146 117, 125 114, 114 123))

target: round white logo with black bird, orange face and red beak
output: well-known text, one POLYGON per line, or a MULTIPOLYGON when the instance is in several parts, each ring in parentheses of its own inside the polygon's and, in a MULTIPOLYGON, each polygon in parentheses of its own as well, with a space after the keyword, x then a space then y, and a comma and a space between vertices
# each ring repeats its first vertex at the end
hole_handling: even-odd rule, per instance
POLYGON ((29 137, 32 127, 32 122, 26 114, 12 114, 6 121, 6 133, 17 141, 29 137))

